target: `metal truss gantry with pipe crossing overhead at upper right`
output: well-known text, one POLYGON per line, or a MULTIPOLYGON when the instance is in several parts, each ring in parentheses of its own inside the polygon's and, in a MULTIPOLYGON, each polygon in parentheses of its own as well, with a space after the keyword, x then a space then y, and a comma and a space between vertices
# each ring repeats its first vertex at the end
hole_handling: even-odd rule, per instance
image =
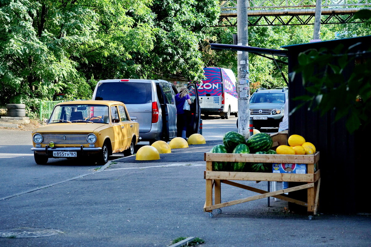
MULTIPOLYGON (((313 25, 316 1, 249 0, 249 26, 313 25)), ((321 24, 362 23, 355 12, 371 10, 369 0, 322 0, 321 24)), ((217 27, 237 26, 237 0, 220 1, 217 27)))

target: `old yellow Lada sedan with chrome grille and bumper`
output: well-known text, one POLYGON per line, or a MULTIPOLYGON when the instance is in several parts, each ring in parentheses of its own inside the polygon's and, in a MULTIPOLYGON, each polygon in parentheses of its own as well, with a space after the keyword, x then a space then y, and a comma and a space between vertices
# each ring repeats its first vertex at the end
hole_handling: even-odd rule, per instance
POLYGON ((46 126, 32 131, 31 150, 37 164, 73 157, 105 164, 113 153, 134 154, 139 138, 139 124, 130 119, 124 103, 66 101, 54 107, 46 126))

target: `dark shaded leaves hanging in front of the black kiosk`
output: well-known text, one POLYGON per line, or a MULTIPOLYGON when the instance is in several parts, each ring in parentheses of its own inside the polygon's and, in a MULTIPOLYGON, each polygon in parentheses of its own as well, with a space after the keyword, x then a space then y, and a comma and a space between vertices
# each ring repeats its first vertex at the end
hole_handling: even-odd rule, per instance
MULTIPOLYGON (((371 11, 360 11, 356 17, 370 23, 371 11)), ((352 48, 340 44, 305 51, 299 54, 299 65, 292 75, 301 73, 308 91, 295 99, 302 101, 298 107, 308 106, 322 115, 334 111, 335 121, 346 118, 350 133, 360 128, 368 130, 371 125, 371 45, 362 53, 355 53, 352 48), (349 66, 354 69, 347 77, 349 66), (318 71, 318 68, 322 69, 318 71)))

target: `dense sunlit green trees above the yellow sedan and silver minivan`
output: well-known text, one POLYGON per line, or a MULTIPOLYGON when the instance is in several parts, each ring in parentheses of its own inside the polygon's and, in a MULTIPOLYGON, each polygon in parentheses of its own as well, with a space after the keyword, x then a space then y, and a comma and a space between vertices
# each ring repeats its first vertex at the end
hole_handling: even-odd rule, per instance
POLYGON ((0 0, 0 104, 89 99, 97 80, 202 78, 216 0, 0 0))

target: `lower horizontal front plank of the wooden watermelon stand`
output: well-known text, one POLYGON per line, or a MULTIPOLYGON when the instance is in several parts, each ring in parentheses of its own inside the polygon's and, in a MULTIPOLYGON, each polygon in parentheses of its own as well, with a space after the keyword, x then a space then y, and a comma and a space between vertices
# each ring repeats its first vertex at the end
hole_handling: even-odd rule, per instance
POLYGON ((287 181, 313 183, 314 174, 295 173, 245 173, 236 171, 205 171, 206 179, 250 180, 250 181, 287 181))

